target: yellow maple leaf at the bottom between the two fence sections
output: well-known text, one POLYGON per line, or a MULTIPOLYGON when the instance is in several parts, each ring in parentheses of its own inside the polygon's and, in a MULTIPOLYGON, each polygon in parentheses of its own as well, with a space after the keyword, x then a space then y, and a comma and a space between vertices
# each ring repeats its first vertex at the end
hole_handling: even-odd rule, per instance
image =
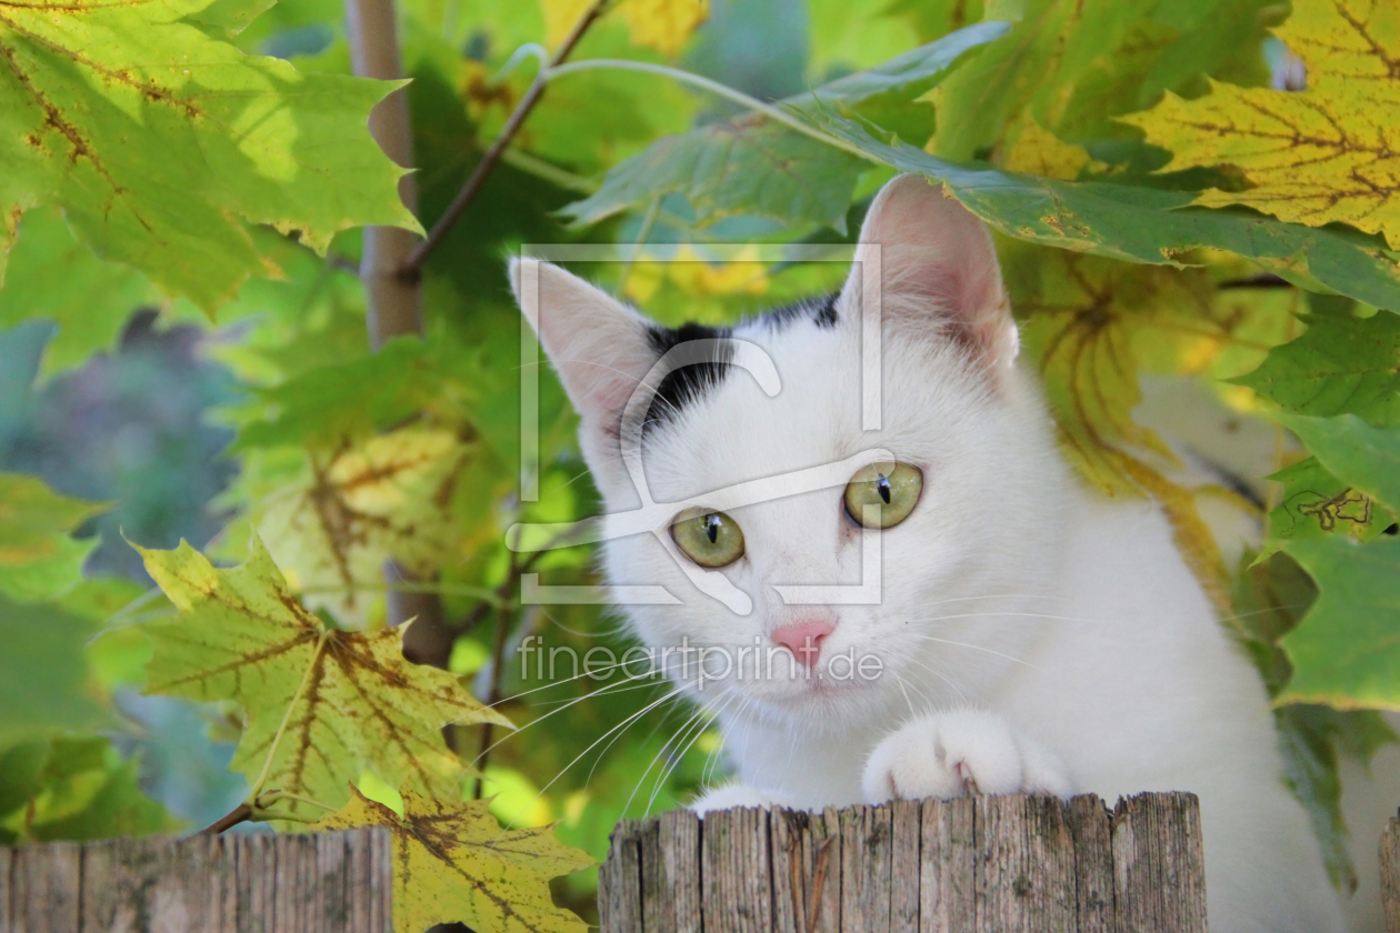
POLYGON ((392 834, 393 929, 420 933, 465 923, 476 933, 584 933, 554 906, 549 880, 594 864, 547 827, 503 831, 490 802, 427 800, 405 788, 403 816, 350 789, 350 802, 314 829, 381 825, 392 834))

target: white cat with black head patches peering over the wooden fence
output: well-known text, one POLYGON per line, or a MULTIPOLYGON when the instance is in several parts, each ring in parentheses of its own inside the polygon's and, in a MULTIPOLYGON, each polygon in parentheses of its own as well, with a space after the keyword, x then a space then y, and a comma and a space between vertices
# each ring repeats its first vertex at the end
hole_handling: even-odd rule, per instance
MULTIPOLYGON (((713 649, 708 680, 697 656, 668 663, 717 712, 739 781, 696 809, 1190 790, 1212 929, 1344 929, 1253 666, 1162 513, 1086 490, 1060 457, 1014 362, 986 228, 903 176, 876 197, 861 243, 840 297, 732 332, 668 330, 559 267, 524 269, 538 274, 524 304, 538 294, 532 323, 582 418, 609 527, 643 505, 638 476, 651 499, 678 504, 647 512, 652 533, 609 540, 605 569, 613 587, 659 583, 679 600, 627 607, 647 645, 713 649), (872 243, 882 404, 865 431, 872 243), (760 385, 763 354, 727 337, 771 358, 776 394, 760 385), (693 340, 708 341, 692 344, 700 365, 655 371, 693 340), (629 408, 634 394, 643 404, 629 408), (812 478, 833 463, 847 473, 812 478), (763 478, 753 501, 741 484, 763 478), (861 518, 886 525, 878 601, 861 518), (794 589, 833 585, 847 589, 825 603, 794 589)), ((515 264, 518 294, 521 280, 515 264)), ((1352 821, 1364 878, 1387 809, 1372 800, 1368 822, 1352 821)), ((1372 918, 1375 890, 1364 884, 1372 918)))

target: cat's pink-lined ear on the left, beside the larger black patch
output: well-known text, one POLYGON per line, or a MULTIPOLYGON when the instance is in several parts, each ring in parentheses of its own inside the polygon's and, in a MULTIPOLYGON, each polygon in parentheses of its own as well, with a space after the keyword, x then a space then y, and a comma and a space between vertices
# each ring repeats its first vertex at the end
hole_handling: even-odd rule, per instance
POLYGON ((538 259, 512 259, 511 291, 582 420, 584 456, 599 471, 616 456, 627 400, 658 355, 647 322, 578 276, 538 259))

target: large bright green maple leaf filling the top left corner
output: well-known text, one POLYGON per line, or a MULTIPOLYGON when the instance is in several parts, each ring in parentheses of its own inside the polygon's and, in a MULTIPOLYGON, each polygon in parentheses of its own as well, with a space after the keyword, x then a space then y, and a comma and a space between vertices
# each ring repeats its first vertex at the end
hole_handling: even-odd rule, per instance
MULTIPOLYGON (((388 83, 298 74, 210 38, 248 4, 210 0, 0 11, 0 249, 21 211, 60 204, 99 256, 207 312, 260 271, 244 222, 325 250, 361 224, 419 229, 374 144, 388 83)), ((0 267, 3 271, 3 267, 0 267)))

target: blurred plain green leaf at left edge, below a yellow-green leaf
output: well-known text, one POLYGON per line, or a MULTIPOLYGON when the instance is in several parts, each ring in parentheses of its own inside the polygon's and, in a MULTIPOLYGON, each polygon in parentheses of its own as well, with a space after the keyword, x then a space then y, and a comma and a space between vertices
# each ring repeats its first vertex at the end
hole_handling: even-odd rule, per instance
POLYGON ((24 606, 0 594, 0 747, 101 722, 83 657, 94 628, 50 606, 24 606))

